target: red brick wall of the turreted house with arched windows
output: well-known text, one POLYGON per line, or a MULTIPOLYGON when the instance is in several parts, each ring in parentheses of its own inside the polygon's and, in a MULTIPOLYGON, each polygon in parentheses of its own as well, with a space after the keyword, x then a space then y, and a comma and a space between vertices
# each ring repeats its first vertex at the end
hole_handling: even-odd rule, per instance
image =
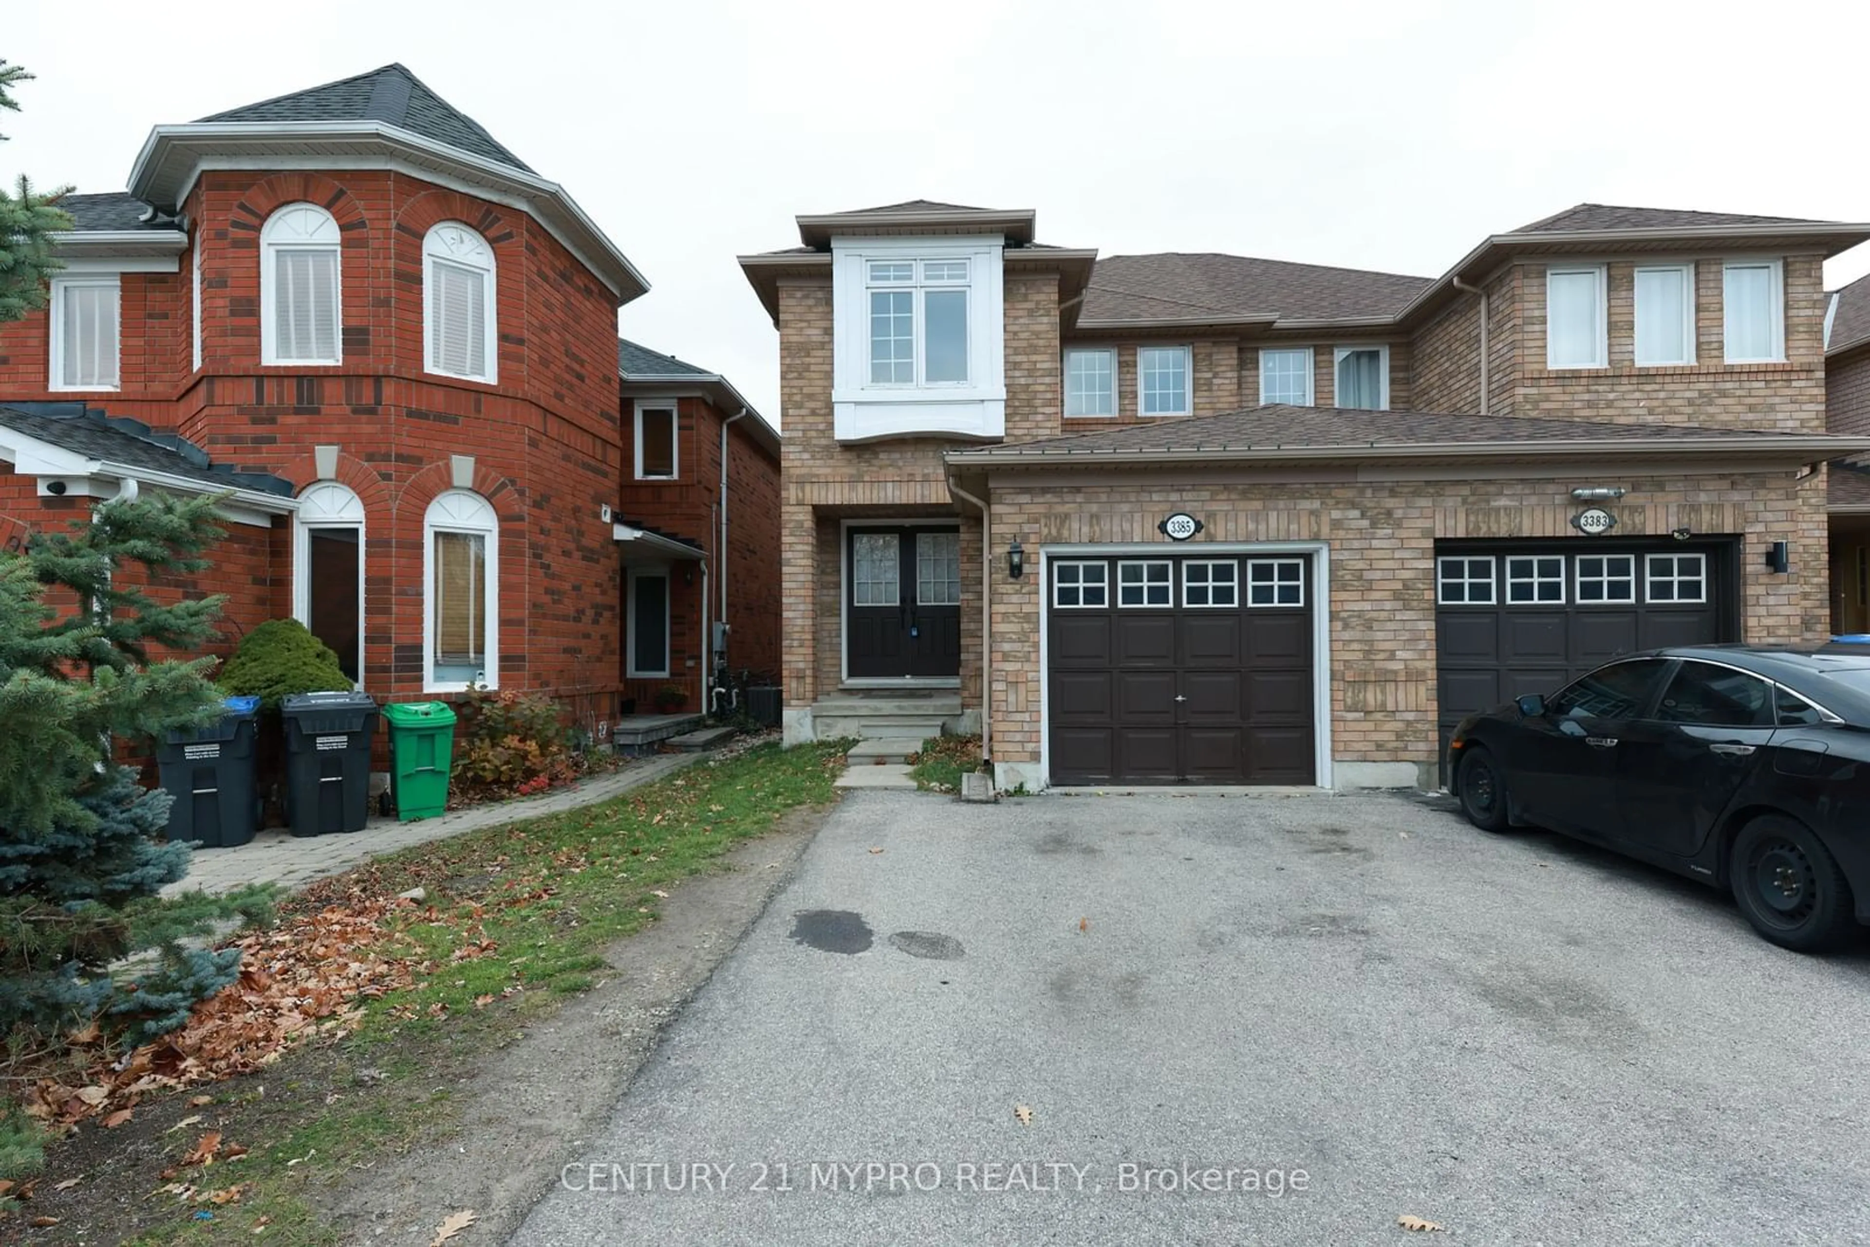
MULTIPOLYGON (((191 370, 191 254, 123 275, 123 387, 82 394, 174 430, 217 464, 309 484, 314 445, 365 503, 367 688, 415 695, 423 669, 423 518, 471 456, 499 514, 499 679, 610 712, 623 690, 615 295, 516 209, 393 172, 208 172, 185 206, 202 249, 202 370, 191 370), (260 226, 292 202, 342 236, 337 366, 260 365, 260 226), (497 383, 423 370, 423 236, 464 221, 496 256, 497 383)), ((0 325, 0 402, 47 391, 45 314, 0 325)), ((266 613, 290 611, 290 525, 269 538, 266 613)), ((249 595, 256 596, 256 595, 249 595)), ((245 609, 245 608, 243 608, 245 609)))

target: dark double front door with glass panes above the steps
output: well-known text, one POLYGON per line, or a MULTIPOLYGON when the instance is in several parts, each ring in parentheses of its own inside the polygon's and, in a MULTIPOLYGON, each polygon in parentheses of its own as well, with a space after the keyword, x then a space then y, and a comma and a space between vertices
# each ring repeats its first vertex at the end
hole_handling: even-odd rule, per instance
POLYGON ((853 525, 845 533, 845 675, 853 681, 961 673, 961 531, 853 525))

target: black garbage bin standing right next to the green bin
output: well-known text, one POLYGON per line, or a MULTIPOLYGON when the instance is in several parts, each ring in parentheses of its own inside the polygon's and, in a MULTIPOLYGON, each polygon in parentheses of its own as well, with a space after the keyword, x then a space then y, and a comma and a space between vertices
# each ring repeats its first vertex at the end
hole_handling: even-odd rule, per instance
POLYGON ((279 703, 286 722, 286 824, 294 836, 361 832, 370 817, 370 740, 376 699, 368 694, 292 694, 279 703))

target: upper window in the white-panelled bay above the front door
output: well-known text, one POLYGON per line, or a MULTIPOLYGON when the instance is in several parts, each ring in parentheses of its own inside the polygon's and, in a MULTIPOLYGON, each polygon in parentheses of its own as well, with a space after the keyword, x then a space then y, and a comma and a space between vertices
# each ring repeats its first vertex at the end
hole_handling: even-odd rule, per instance
POLYGON ((967 385, 971 262, 870 260, 871 385, 967 385))

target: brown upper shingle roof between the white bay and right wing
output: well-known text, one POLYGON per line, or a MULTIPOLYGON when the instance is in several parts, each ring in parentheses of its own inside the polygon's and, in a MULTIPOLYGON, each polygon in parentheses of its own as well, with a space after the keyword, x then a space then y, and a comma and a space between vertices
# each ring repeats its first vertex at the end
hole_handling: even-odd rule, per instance
POLYGON ((1161 320, 1277 314, 1285 320, 1393 316, 1427 277, 1225 254, 1148 254, 1098 260, 1083 320, 1161 320))

